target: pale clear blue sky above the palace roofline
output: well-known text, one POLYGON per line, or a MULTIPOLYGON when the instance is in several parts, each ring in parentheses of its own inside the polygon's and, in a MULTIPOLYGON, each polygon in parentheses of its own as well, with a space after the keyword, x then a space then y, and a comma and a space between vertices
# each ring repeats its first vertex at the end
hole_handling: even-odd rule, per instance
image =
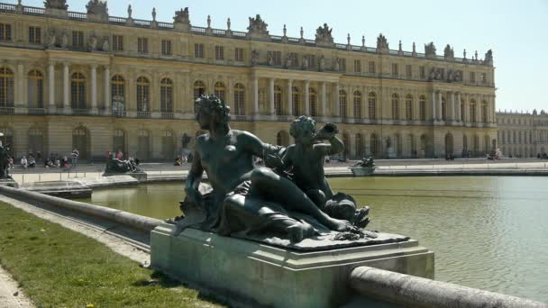
MULTIPOLYGON (((397 49, 399 40, 404 50, 411 50, 416 41, 419 52, 434 41, 438 54, 449 43, 457 57, 466 49, 468 58, 475 50, 483 58, 492 49, 497 109, 548 110, 548 95, 542 90, 548 79, 548 0, 110 0, 109 14, 125 17, 130 3, 133 18, 147 20, 155 5, 160 22, 172 22, 174 11, 188 6, 190 22, 198 26, 205 26, 210 14, 214 28, 226 28, 230 17, 233 30, 246 31, 248 17, 260 14, 269 32, 277 35, 286 23, 288 36, 298 37, 302 26, 305 38, 314 39, 315 29, 328 23, 340 43, 346 43, 350 33, 352 44, 361 44, 365 35, 366 45, 375 46, 382 32, 391 49, 397 49)), ((86 4, 87 0, 68 0, 68 9, 85 12, 86 4)), ((23 5, 42 7, 43 0, 23 0, 23 5)))

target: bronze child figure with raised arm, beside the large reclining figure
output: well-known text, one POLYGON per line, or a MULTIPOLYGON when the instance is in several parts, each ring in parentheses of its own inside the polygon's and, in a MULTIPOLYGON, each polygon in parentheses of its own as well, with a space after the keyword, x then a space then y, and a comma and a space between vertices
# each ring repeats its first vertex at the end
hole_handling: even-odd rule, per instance
POLYGON ((364 228, 369 219, 369 206, 356 211, 356 202, 351 195, 333 193, 324 174, 324 159, 329 155, 342 153, 344 143, 338 139, 339 132, 333 123, 327 123, 321 130, 316 129, 314 119, 300 116, 291 122, 289 134, 295 144, 288 146, 278 169, 291 168, 291 177, 297 186, 314 201, 322 211, 333 218, 352 222, 364 228), (329 143, 323 142, 328 140, 329 143))

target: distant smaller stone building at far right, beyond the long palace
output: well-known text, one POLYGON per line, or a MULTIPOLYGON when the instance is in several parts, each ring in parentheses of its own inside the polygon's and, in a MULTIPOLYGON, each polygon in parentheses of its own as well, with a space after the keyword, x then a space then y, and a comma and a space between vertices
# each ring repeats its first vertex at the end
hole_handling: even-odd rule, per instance
POLYGON ((506 157, 532 158, 548 151, 548 113, 498 112, 498 147, 506 157))

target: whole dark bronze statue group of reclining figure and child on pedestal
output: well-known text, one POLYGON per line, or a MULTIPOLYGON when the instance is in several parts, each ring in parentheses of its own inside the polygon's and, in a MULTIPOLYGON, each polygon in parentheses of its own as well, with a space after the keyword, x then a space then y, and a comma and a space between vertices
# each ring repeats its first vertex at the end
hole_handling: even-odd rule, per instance
MULTIPOLYGON (((297 144, 285 149, 232 130, 230 108, 213 95, 196 99, 196 113, 208 133, 196 139, 181 209, 189 217, 187 209, 199 208, 204 217, 190 227, 280 246, 377 238, 360 229, 369 208, 356 211, 352 197, 333 194, 325 180, 324 156, 343 149, 334 125, 317 131, 314 120, 300 117, 291 124, 297 144), (256 168, 253 157, 267 167, 256 168), (204 171, 210 188, 200 183, 204 171)), ((176 221, 185 225, 188 217, 176 221)))

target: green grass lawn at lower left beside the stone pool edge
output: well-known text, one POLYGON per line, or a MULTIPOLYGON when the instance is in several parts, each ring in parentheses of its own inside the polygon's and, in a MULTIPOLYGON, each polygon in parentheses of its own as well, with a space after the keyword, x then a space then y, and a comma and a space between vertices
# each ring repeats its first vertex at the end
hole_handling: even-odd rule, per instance
POLYGON ((0 264, 37 307, 217 306, 96 240, 4 203, 0 264))

